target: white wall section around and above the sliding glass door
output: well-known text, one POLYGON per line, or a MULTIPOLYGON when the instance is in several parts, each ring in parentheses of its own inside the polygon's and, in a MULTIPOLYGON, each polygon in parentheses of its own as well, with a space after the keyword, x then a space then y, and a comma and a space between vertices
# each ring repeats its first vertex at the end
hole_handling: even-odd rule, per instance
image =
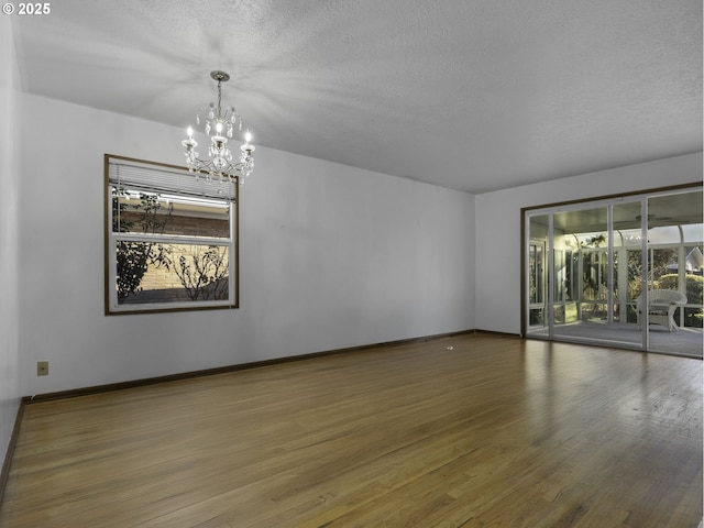
POLYGON ((629 165, 476 198, 475 324, 520 333, 520 209, 702 180, 702 153, 629 165))

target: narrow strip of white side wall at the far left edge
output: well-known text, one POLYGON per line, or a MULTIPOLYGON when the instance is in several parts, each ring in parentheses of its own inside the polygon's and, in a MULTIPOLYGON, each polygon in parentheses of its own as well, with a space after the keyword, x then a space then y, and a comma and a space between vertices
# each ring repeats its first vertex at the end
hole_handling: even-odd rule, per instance
POLYGON ((9 16, 0 19, 0 465, 20 404, 19 196, 20 165, 14 138, 18 65, 9 16))

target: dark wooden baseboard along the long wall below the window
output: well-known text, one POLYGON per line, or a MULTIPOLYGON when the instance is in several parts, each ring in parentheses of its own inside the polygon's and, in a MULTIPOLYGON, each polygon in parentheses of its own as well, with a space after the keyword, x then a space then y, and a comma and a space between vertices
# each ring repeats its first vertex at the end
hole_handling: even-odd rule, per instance
MULTIPOLYGON (((323 358, 323 356, 328 356, 328 355, 336 355, 336 354, 349 354, 349 353, 353 353, 353 352, 361 352, 364 350, 369 350, 369 349, 376 349, 376 348, 383 348, 383 346, 398 346, 398 345, 403 345, 403 344, 409 344, 409 343, 415 343, 415 342, 424 342, 424 341, 430 341, 433 339, 441 339, 441 338, 449 338, 449 337, 454 337, 454 336, 462 336, 462 334, 468 334, 468 333, 477 333, 480 331, 475 330, 475 329, 471 329, 471 330, 461 330, 461 331, 457 331, 457 332, 448 332, 448 333, 437 333, 437 334, 432 334, 432 336, 425 336, 425 337, 419 337, 419 338, 409 338, 409 339, 402 339, 402 340, 397 340, 397 341, 386 341, 386 342, 382 342, 382 343, 373 343, 373 344, 363 344, 360 346, 351 346, 351 348, 345 348, 345 349, 336 349, 336 350, 327 350, 327 351, 321 351, 321 352, 312 352, 310 354, 301 354, 301 355, 289 355, 289 356, 285 356, 285 358, 275 358, 272 360, 263 360, 263 361, 254 361, 251 363, 240 363, 237 365, 227 365, 227 366, 219 366, 216 369, 206 369, 202 371, 191 371, 191 372, 184 372, 184 373, 179 373, 179 374, 169 374, 169 375, 165 375, 165 376, 157 376, 157 377, 147 377, 147 378, 142 378, 142 380, 133 380, 130 382, 120 382, 120 383, 111 383, 111 384, 107 384, 107 385, 96 385, 96 386, 91 386, 91 387, 81 387, 81 388, 74 388, 74 389, 69 389, 69 391, 59 391, 56 393, 45 393, 45 394, 37 394, 34 396, 24 396, 22 398, 22 403, 23 404, 35 404, 35 403, 41 403, 41 402, 51 402, 51 400, 55 400, 55 399, 65 399, 65 398, 74 398, 74 397, 78 397, 78 396, 88 396, 91 394, 99 394, 99 393, 108 393, 108 392, 112 392, 112 391, 121 391, 124 388, 133 388, 133 387, 142 387, 142 386, 146 386, 146 385, 154 385, 157 383, 166 383, 166 382, 177 382, 177 381, 182 381, 182 380, 189 380, 189 378, 194 378, 194 377, 201 377, 201 376, 212 376, 216 374, 226 374, 229 372, 237 372, 237 371, 244 371, 244 370, 249 370, 249 369, 258 369, 262 366, 270 366, 270 365, 276 365, 276 364, 282 364, 282 363, 290 363, 293 361, 305 361, 305 360, 310 360, 314 358, 323 358)), ((494 333, 494 332, 490 332, 490 333, 494 333)), ((512 336, 512 337, 516 337, 513 334, 506 334, 506 336, 512 336)))

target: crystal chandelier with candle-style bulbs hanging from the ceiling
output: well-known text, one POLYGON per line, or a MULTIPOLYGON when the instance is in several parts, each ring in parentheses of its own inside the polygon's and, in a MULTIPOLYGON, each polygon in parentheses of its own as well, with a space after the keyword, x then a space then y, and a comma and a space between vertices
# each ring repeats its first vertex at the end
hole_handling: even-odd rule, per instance
POLYGON ((228 146, 228 140, 232 139, 235 131, 242 132, 242 118, 234 107, 222 109, 222 82, 230 80, 224 72, 216 70, 210 77, 218 81, 218 103, 211 102, 207 108, 198 111, 196 123, 204 127, 204 132, 210 138, 208 157, 201 158, 196 152, 198 142, 194 140, 194 129, 188 127, 188 139, 182 141, 186 148, 186 165, 191 173, 196 173, 196 179, 205 178, 208 183, 213 180, 226 182, 238 179, 244 183, 254 168, 254 145, 250 144, 252 134, 244 134, 244 144, 240 146, 240 155, 235 160, 228 146))

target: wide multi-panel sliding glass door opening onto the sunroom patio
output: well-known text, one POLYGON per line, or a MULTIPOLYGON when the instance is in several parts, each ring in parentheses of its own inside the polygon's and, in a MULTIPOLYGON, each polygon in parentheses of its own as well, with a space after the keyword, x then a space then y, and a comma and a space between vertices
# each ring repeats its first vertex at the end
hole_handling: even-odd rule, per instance
POLYGON ((526 337, 702 355, 701 190, 524 215, 526 337))

